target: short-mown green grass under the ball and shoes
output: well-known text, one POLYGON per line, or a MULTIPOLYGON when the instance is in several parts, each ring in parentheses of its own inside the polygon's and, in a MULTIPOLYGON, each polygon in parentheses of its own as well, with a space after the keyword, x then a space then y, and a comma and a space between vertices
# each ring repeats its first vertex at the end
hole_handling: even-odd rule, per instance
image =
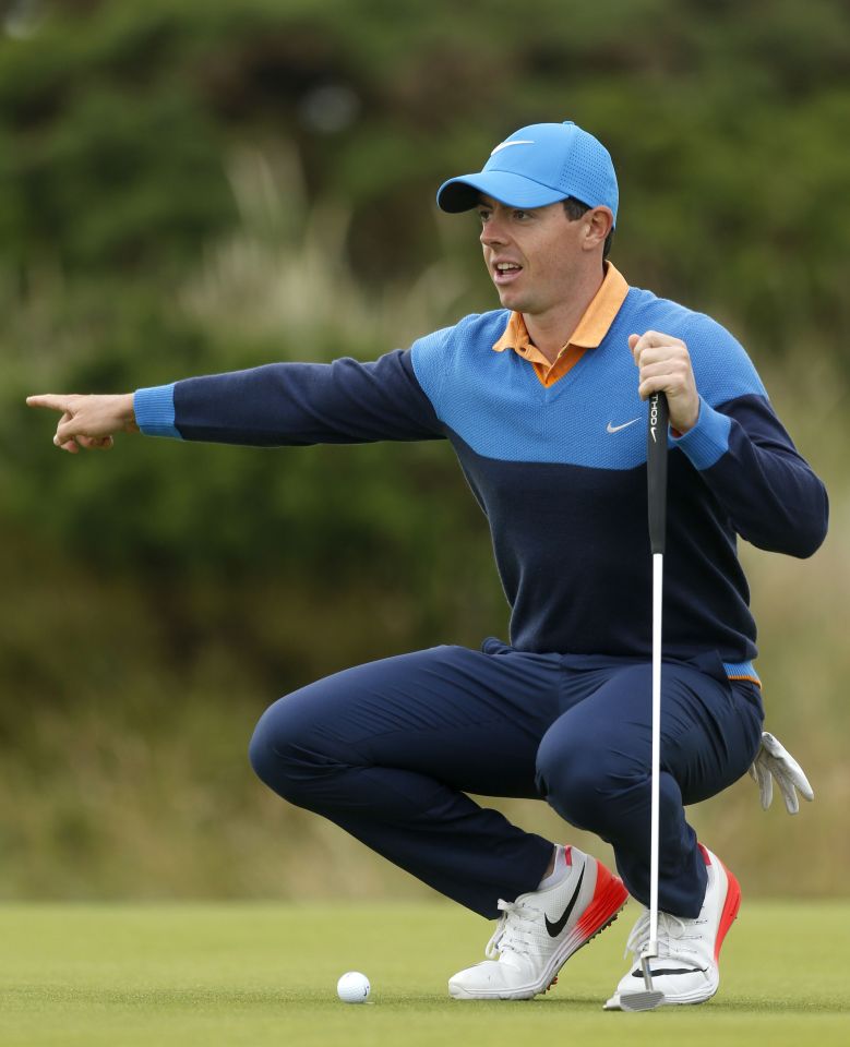
POLYGON ((636 913, 578 952, 546 997, 462 1003, 446 978, 482 958, 490 925, 439 901, 0 906, 0 1044, 850 1044, 850 902, 745 900, 714 1000, 603 1013, 636 913), (370 1002, 336 999, 349 970, 371 978, 370 1002))

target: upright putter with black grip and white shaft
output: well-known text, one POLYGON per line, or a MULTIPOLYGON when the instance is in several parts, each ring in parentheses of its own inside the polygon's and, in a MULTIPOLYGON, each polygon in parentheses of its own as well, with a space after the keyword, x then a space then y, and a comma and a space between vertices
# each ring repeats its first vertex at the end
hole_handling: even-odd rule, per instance
POLYGON ((653 551, 653 785, 649 826, 649 940, 641 953, 644 988, 621 992, 624 1011, 651 1011, 665 998, 653 988, 649 961, 658 955, 658 820, 661 772, 661 593, 663 589, 665 531, 667 521, 667 423, 669 411, 663 393, 649 398, 649 430, 646 445, 649 546, 653 551))

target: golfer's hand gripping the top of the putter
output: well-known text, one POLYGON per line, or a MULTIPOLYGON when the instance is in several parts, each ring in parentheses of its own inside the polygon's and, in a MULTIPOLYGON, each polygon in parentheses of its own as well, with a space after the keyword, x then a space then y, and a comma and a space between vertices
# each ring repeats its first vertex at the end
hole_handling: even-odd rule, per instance
POLYGON ((643 335, 630 335, 628 348, 639 369, 641 399, 663 393, 670 408, 670 426, 684 435, 699 418, 699 394, 687 346, 681 338, 647 330, 643 335))

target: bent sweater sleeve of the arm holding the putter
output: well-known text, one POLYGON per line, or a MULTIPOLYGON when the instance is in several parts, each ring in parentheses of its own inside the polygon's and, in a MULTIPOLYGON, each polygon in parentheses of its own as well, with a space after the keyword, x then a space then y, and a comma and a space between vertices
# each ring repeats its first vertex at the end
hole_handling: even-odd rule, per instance
POLYGON ((743 348, 719 325, 723 365, 698 369, 699 417, 673 438, 699 470, 734 530, 758 549, 811 556, 826 537, 826 489, 777 418, 743 348))

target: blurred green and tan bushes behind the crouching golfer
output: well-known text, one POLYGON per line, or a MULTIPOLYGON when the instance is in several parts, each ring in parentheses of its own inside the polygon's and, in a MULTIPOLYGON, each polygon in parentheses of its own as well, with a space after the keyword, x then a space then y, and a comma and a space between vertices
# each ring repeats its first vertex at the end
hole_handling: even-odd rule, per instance
POLYGON ((0 898, 429 893, 268 793, 246 749, 319 676, 505 636, 448 446, 72 458, 23 399, 374 359, 494 308, 476 219, 435 189, 562 119, 613 154, 614 263, 744 342, 829 488, 812 561, 743 550, 767 725, 816 802, 765 814, 744 779, 691 814, 747 893, 846 893, 846 0, 0 11, 0 898))

